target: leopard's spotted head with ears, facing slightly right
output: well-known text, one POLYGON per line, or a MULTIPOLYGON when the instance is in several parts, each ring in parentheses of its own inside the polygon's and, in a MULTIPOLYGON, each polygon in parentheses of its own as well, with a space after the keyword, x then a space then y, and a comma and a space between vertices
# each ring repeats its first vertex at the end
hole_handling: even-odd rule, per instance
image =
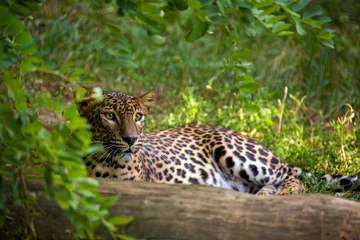
POLYGON ((143 145, 145 115, 155 103, 154 92, 140 97, 123 92, 103 91, 103 100, 96 102, 87 93, 78 102, 78 111, 91 124, 92 141, 102 144, 106 156, 129 161, 143 145))

